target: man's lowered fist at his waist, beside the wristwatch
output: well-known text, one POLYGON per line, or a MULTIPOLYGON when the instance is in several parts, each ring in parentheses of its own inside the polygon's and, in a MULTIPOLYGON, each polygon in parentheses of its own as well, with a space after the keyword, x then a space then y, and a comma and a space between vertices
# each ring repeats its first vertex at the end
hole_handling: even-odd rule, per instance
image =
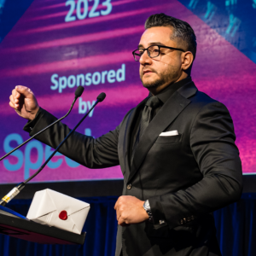
POLYGON ((127 226, 147 220, 148 213, 143 208, 143 203, 144 201, 140 201, 135 196, 120 196, 114 206, 119 225, 127 226))

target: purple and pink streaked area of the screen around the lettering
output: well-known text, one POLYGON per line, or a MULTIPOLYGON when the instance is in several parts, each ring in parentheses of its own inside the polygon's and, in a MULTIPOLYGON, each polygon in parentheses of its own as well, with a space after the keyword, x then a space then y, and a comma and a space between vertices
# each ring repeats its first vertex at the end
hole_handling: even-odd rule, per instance
MULTIPOLYGON (((106 9, 102 6, 103 2, 100 1, 96 10, 106 9)), ((23 141, 28 138, 28 134, 22 131, 26 120, 9 108, 9 95, 15 85, 31 88, 39 105, 56 117, 67 113, 76 87, 66 88, 62 93, 51 90, 53 84, 50 78, 54 73, 59 77, 101 73, 110 69, 116 71, 125 64, 125 81, 84 86, 83 101, 94 101, 102 91, 107 97, 78 131, 84 133, 84 129, 89 128, 92 136, 100 137, 119 125, 125 113, 148 95, 148 90, 140 82, 139 64, 133 60, 131 51, 137 48, 148 16, 164 12, 186 20, 194 28, 198 47, 192 79, 199 90, 229 108, 235 124, 236 145, 241 153, 243 172, 256 172, 256 104, 253 99, 256 64, 176 0, 119 0, 111 3, 113 9, 109 15, 65 22, 69 7, 64 1, 35 0, 3 38, 0 43, 0 154, 5 154, 3 141, 9 134, 20 134, 23 141)), ((93 2, 89 2, 90 8, 92 5, 93 2)), ((82 116, 78 100, 65 123, 73 128, 82 116)), ((24 150, 21 149, 23 153, 24 150)), ((90 170, 84 166, 71 168, 67 166, 64 156, 55 156, 53 161, 58 159, 63 159, 60 167, 50 169, 46 166, 33 181, 122 178, 119 166, 102 170, 90 170)), ((36 149, 32 150, 31 160, 38 160, 36 149)), ((9 156, 9 161, 15 163, 17 159, 9 156)), ((10 172, 2 161, 0 183, 23 180, 24 165, 10 172)), ((31 170, 30 175, 34 172, 31 170)))

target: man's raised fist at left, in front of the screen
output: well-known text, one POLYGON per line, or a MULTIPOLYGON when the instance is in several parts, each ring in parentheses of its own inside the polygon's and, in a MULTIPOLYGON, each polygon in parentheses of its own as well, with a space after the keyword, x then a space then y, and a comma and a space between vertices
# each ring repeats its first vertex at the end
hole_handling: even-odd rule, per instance
POLYGON ((32 90, 26 86, 17 85, 12 91, 12 95, 9 96, 9 100, 9 106, 15 108, 16 113, 24 119, 32 120, 38 113, 37 99, 32 90))

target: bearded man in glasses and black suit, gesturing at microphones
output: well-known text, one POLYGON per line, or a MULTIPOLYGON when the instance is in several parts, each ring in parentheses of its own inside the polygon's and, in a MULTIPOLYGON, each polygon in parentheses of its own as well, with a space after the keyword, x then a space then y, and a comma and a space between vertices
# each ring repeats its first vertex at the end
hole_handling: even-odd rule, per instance
MULTIPOLYGON (((115 130, 96 139, 75 132, 60 152, 90 168, 121 166, 116 256, 221 255, 211 212, 237 201, 242 188, 230 113, 190 78, 189 24, 160 14, 145 28, 133 55, 149 96, 115 130)), ((9 104, 30 120, 30 135, 55 121, 24 86, 9 104)), ((56 148, 69 131, 59 123, 38 140, 56 148)))

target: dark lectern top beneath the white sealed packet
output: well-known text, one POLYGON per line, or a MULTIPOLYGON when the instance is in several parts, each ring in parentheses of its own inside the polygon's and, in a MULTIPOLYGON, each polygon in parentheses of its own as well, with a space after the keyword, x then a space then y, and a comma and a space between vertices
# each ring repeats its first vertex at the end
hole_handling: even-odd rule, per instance
POLYGON ((83 245, 85 232, 81 235, 38 224, 12 210, 5 212, 0 207, 0 233, 26 241, 43 244, 83 245), (16 214, 15 214, 16 213, 16 214))

